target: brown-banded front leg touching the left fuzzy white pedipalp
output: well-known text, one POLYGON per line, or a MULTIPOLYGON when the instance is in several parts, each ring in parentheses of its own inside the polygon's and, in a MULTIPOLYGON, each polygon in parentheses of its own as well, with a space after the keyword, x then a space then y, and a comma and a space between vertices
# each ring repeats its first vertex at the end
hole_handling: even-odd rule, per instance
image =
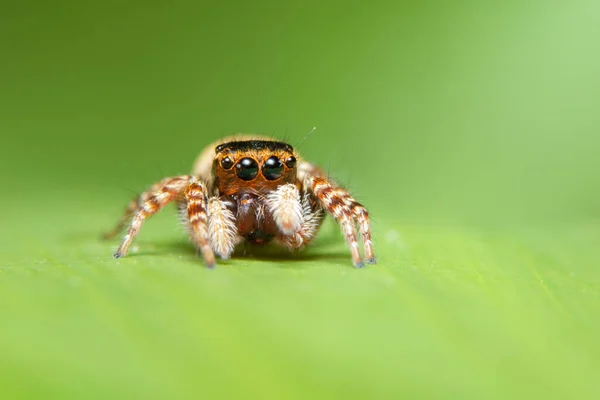
POLYGON ((215 266, 215 254, 210 246, 206 186, 193 182, 185 191, 185 204, 190 234, 194 245, 200 249, 206 266, 215 266))

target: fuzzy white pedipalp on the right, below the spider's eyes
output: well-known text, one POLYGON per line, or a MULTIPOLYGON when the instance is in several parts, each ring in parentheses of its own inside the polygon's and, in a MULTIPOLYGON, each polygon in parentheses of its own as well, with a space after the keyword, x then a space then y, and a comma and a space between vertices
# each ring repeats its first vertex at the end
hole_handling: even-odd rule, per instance
POLYGON ((267 195, 267 208, 281 232, 296 233, 302 225, 302 203, 296 185, 288 183, 267 195))

